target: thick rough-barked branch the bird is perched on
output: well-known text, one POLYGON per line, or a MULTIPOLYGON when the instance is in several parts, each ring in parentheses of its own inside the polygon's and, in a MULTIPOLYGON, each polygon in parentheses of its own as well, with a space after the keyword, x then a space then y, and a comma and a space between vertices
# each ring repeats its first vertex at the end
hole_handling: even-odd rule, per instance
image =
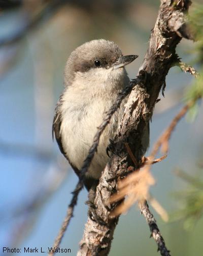
POLYGON ((94 201, 96 214, 106 224, 88 218, 78 256, 107 255, 110 251, 118 217, 110 217, 116 204, 110 205, 108 201, 116 192, 116 177, 118 174, 125 175, 126 170, 135 170, 138 167, 134 166, 127 154, 124 142, 127 142, 139 162, 144 152, 144 131, 152 118, 161 88, 165 85, 168 70, 177 62, 176 46, 185 35, 184 14, 189 5, 188 0, 161 0, 149 47, 139 69, 140 82, 130 93, 122 122, 114 138, 114 151, 117 154, 112 155, 96 190, 94 201))

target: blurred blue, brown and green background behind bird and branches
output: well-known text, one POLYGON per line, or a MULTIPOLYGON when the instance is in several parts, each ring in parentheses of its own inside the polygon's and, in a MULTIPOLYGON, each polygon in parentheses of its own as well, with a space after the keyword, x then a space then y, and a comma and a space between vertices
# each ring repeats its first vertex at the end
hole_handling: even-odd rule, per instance
MULTIPOLYGON (((202 1, 196 4, 201 6, 202 1)), ((124 54, 139 54, 127 66, 129 77, 135 77, 158 8, 155 0, 0 0, 0 254, 3 246, 51 247, 78 181, 51 136, 68 56, 86 41, 112 40, 124 54)), ((196 61, 196 47, 197 43, 182 40, 177 53, 199 70, 202 59, 196 61)), ((165 98, 160 95, 150 127, 151 147, 181 109, 185 91, 193 83, 194 78, 179 68, 170 70, 165 98)), ((170 221, 162 221, 152 211, 172 255, 201 256, 203 251, 203 187, 200 201, 195 201, 198 211, 188 217, 187 198, 192 204, 194 200, 185 193, 196 195, 199 190, 175 174, 179 169, 196 182, 203 179, 202 134, 203 106, 199 102, 178 124, 168 157, 152 168, 156 185, 151 193, 171 216, 170 221)), ((76 255, 82 238, 86 200, 83 190, 60 246, 70 248, 70 255, 76 255)), ((110 255, 158 255, 149 236, 149 227, 134 206, 120 217, 110 255)))

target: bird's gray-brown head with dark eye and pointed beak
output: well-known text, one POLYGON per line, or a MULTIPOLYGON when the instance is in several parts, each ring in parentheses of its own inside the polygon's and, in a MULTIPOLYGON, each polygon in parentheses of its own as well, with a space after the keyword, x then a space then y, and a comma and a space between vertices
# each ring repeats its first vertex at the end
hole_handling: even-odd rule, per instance
POLYGON ((78 76, 83 79, 119 79, 126 74, 124 66, 138 55, 123 56, 120 48, 112 41, 92 40, 77 47, 67 60, 64 71, 65 86, 73 83, 78 76), (106 78, 105 78, 106 77, 106 78))

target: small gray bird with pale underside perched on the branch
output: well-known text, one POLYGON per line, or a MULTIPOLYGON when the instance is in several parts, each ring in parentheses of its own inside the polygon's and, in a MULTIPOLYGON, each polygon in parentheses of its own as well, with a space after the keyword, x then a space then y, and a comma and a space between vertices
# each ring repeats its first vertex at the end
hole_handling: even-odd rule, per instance
MULTIPOLYGON (((138 55, 123 56, 119 47, 104 39, 76 48, 64 70, 64 91, 55 109, 52 133, 61 153, 79 175, 104 113, 115 102, 129 78, 125 65, 138 55)), ((100 137, 99 146, 85 178, 89 190, 98 181, 109 158, 106 149, 114 137, 124 104, 100 137)))

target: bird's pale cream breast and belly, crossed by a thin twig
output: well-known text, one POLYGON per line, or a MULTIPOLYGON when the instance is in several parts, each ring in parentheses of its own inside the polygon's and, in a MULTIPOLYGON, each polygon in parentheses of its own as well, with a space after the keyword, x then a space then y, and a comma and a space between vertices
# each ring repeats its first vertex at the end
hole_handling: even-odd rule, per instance
MULTIPOLYGON (((118 93, 129 82, 126 71, 95 69, 88 74, 78 72, 75 82, 65 88, 62 97, 61 128, 63 149, 70 162, 81 169, 93 143, 97 127, 103 122, 104 112, 115 102, 118 93)), ((122 109, 121 109, 122 111, 122 109)), ((120 110, 100 137, 97 152, 88 170, 88 176, 99 179, 109 157, 106 148, 117 129, 120 110)))

